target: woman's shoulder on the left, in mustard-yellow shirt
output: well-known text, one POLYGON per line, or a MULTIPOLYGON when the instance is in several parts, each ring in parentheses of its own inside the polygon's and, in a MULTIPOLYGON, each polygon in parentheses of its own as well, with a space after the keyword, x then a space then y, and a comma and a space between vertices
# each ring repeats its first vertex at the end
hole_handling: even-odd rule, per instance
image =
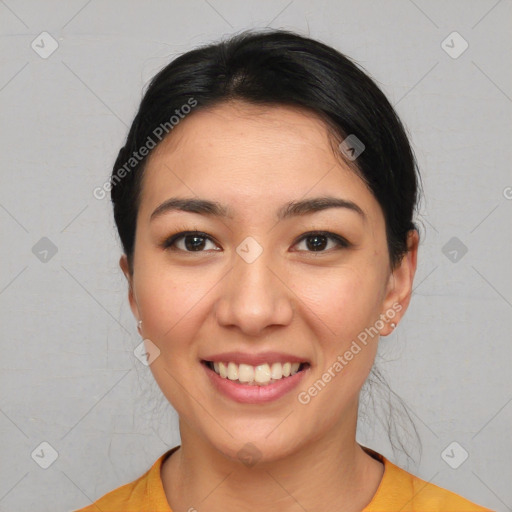
POLYGON ((161 455, 139 478, 108 492, 87 507, 74 512, 171 512, 165 499, 160 468, 175 449, 161 455))

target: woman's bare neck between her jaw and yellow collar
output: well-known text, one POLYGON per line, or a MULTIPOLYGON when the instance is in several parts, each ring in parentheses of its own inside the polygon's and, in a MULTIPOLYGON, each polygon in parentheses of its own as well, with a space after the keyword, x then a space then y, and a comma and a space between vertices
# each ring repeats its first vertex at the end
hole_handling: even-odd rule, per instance
POLYGON ((352 428, 275 461, 245 466, 225 457, 180 422, 182 444, 162 466, 162 483, 173 510, 360 512, 372 499, 383 464, 368 455, 352 428))

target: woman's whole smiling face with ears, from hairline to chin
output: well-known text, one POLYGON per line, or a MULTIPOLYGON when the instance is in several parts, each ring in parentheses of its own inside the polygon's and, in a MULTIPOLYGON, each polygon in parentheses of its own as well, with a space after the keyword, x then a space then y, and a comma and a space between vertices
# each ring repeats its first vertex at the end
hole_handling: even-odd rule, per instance
POLYGON ((251 443, 265 460, 355 435, 415 264, 413 247, 392 272, 381 208, 320 119, 240 102, 194 112, 154 150, 133 274, 121 258, 180 427, 227 457, 251 443), (162 206, 172 198, 196 202, 162 206))

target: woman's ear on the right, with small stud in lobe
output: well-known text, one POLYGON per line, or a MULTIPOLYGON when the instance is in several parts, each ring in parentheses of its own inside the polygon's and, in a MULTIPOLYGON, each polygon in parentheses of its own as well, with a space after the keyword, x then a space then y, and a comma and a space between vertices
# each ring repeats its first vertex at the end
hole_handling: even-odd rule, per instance
POLYGON ((381 311, 381 317, 387 317, 387 320, 384 319, 385 326, 381 330, 381 336, 387 336, 393 331, 390 324, 394 322, 398 325, 409 306, 414 274, 416 273, 418 245, 418 231, 411 229, 407 234, 407 253, 403 256, 399 265, 391 272, 388 279, 383 310, 381 311), (394 316, 392 316, 393 312, 395 313, 394 316))

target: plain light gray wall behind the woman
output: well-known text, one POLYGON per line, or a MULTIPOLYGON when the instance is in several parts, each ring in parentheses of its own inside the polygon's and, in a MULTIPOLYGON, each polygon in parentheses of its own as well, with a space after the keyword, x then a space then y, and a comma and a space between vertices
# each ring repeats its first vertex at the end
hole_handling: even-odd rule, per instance
POLYGON ((111 207, 92 192, 154 73, 198 44, 264 26, 359 61, 407 125, 423 176, 414 295, 379 357, 423 456, 406 466, 378 425, 362 424, 358 439, 512 510, 511 11, 509 0, 0 1, 0 510, 85 506, 179 443, 133 354, 111 207), (446 40, 454 31, 469 44, 460 55, 463 40, 446 40), (50 37, 58 48, 45 55, 50 37), (58 453, 47 469, 42 442, 58 453), (462 450, 454 469, 446 460, 462 450))

